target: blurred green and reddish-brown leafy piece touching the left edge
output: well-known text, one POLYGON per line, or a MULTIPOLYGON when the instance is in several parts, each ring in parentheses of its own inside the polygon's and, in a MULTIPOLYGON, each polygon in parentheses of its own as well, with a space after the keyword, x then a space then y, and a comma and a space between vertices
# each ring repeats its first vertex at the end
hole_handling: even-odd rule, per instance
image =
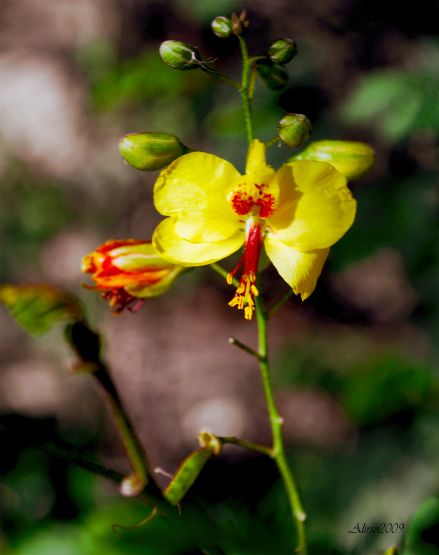
POLYGON ((78 299, 50 285, 2 285, 0 303, 32 334, 45 333, 61 322, 84 320, 78 299))

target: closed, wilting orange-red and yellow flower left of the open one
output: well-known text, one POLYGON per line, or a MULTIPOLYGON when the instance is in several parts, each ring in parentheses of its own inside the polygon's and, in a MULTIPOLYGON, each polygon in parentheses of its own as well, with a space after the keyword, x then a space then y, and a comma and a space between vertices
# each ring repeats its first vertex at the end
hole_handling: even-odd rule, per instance
POLYGON ((107 241, 84 256, 82 271, 96 283, 84 287, 100 291, 114 312, 122 312, 165 293, 183 268, 160 258, 151 241, 123 239, 107 241))

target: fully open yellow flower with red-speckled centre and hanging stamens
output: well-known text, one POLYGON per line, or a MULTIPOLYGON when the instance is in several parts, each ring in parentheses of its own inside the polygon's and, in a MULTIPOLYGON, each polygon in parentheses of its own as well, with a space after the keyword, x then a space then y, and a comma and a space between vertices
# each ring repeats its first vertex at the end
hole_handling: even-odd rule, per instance
POLYGON ((282 278, 305 300, 313 292, 329 247, 354 221, 356 202, 346 178, 325 162, 295 161, 275 172, 265 146, 250 145, 244 175, 217 156, 192 152, 164 169, 154 187, 157 210, 168 216, 153 245, 181 266, 202 266, 244 244, 242 268, 231 306, 251 319, 258 295, 262 245, 282 278))

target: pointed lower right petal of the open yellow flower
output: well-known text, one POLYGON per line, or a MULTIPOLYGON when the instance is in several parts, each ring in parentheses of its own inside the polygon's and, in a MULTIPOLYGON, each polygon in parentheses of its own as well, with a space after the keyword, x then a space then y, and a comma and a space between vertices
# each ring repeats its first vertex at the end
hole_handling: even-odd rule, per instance
POLYGON ((300 294, 302 301, 307 299, 315 289, 329 249, 300 252, 271 235, 265 238, 264 246, 280 276, 296 295, 300 294))

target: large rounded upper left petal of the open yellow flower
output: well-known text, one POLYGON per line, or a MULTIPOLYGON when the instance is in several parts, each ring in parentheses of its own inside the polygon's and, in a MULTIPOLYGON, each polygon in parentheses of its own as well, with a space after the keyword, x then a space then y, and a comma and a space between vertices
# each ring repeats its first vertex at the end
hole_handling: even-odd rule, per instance
POLYGON ((239 220, 226 201, 226 189, 240 178, 217 156, 191 152, 164 169, 154 186, 154 204, 178 220, 175 231, 188 241, 219 241, 236 233, 239 220))

